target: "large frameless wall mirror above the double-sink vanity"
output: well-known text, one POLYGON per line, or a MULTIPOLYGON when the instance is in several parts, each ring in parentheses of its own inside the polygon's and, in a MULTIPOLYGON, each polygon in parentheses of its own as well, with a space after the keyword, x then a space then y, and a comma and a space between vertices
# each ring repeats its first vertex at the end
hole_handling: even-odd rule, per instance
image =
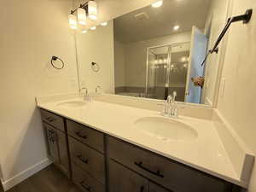
POLYGON ((225 24, 228 1, 222 8, 216 8, 221 3, 215 2, 164 0, 161 6, 148 5, 121 15, 109 21, 108 27, 97 27, 97 32, 77 35, 78 60, 83 61, 79 62, 80 76, 86 81, 84 72, 90 71, 93 60, 86 59, 94 55, 98 60, 97 53, 106 57, 98 61, 106 67, 100 73, 114 76, 109 92, 165 100, 175 91, 178 102, 211 106, 220 53, 211 55, 203 66, 201 63, 225 24), (84 48, 88 42, 94 44, 92 48, 84 48), (90 55, 84 54, 87 52, 90 55))

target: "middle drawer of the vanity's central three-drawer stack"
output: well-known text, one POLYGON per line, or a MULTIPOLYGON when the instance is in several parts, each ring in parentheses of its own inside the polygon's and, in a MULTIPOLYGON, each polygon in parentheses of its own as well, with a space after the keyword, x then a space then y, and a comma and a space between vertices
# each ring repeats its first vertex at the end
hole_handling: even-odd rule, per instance
POLYGON ((87 147, 83 143, 68 137, 71 160, 95 177, 99 182, 105 183, 105 161, 104 155, 87 147))

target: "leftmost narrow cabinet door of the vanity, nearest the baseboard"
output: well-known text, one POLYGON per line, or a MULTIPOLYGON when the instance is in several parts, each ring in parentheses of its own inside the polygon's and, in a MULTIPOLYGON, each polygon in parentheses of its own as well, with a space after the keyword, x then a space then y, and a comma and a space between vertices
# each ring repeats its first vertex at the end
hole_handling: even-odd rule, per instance
POLYGON ((48 156, 49 159, 54 162, 54 164, 59 164, 59 152, 58 152, 58 143, 56 142, 56 132, 55 129, 49 125, 43 124, 47 143, 48 143, 48 156))

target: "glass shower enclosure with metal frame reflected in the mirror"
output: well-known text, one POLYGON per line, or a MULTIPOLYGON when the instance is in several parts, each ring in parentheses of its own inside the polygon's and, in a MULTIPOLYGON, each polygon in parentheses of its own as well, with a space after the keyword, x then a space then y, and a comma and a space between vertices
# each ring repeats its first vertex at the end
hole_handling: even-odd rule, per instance
POLYGON ((189 43, 148 48, 145 96, 163 100, 176 91, 184 102, 188 65, 189 43))

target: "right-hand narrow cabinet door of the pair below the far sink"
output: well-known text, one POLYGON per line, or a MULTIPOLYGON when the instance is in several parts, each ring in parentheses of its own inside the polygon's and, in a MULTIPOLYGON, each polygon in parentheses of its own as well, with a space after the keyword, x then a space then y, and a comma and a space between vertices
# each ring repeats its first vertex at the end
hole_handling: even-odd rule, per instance
POLYGON ((64 172, 67 177, 69 175, 69 158, 67 153, 67 137, 65 133, 55 130, 56 132, 56 140, 58 145, 58 153, 59 153, 59 164, 58 166, 61 168, 61 171, 64 172))

